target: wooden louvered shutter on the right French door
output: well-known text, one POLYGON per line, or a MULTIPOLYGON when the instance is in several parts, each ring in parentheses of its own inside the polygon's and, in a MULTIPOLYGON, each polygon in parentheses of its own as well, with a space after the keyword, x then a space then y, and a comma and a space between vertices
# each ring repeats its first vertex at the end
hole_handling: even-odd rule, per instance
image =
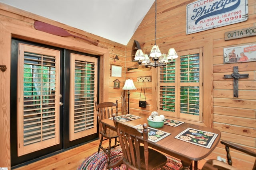
POLYGON ((70 141, 97 133, 97 58, 71 54, 70 141))

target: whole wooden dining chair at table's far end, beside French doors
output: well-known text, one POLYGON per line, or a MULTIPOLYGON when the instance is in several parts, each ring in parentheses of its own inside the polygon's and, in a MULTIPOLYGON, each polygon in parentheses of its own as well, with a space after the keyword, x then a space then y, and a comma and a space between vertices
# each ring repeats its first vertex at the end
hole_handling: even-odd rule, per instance
POLYGON ((106 125, 102 124, 102 119, 108 119, 112 117, 112 114, 118 114, 118 100, 116 100, 116 103, 113 102, 103 102, 100 104, 97 104, 95 102, 95 107, 97 111, 97 118, 98 118, 98 124, 99 124, 99 133, 100 133, 100 144, 98 147, 98 153, 100 152, 100 149, 102 149, 107 154, 107 167, 110 163, 110 149, 115 148, 119 146, 119 143, 117 141, 118 135, 116 133, 116 129, 110 129, 106 125), (111 146, 112 139, 115 139, 114 145, 111 146), (102 147, 102 141, 108 140, 108 148, 102 147))

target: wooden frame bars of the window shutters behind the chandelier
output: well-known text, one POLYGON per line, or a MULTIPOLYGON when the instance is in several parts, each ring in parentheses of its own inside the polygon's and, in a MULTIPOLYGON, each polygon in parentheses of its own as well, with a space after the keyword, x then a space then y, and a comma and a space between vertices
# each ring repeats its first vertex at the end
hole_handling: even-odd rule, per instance
MULTIPOLYGON (((160 68, 159 70, 161 70, 159 72, 159 86, 158 86, 158 92, 159 92, 159 102, 158 102, 158 106, 159 106, 159 110, 161 110, 161 112, 163 112, 164 115, 166 116, 173 116, 173 117, 179 117, 179 118, 184 118, 184 119, 190 119, 190 120, 194 120, 194 121, 202 121, 202 99, 203 99, 203 94, 202 94, 202 81, 203 81, 203 74, 200 73, 199 75, 199 78, 198 78, 198 82, 187 82, 187 81, 181 81, 181 75, 182 72, 181 70, 184 70, 184 68, 181 68, 181 63, 184 63, 184 61, 181 61, 181 58, 183 56, 183 59, 186 59, 186 58, 190 58, 192 57, 191 55, 194 55, 195 57, 198 56, 199 58, 196 59, 196 60, 192 60, 192 61, 198 61, 198 65, 199 65, 199 70, 203 70, 203 57, 202 57, 202 48, 199 48, 199 49, 192 49, 192 50, 186 50, 186 51, 180 51, 178 52, 178 55, 179 57, 177 59, 175 59, 175 63, 174 64, 170 64, 169 66, 166 66, 165 68, 167 68, 166 70, 163 69, 163 68, 160 68), (189 57, 188 57, 189 56, 189 57), (202 64, 201 64, 202 63, 202 64), (178 69, 180 68, 180 69, 178 69), (170 78, 170 76, 168 76, 168 74, 170 73, 167 73, 168 70, 175 70, 175 73, 172 73, 172 78, 175 78, 175 80, 164 80, 165 78, 168 79, 170 78), (162 75, 160 75, 162 74, 162 75), (175 75, 173 75, 175 74, 175 75), (165 75, 165 76, 164 76, 165 75), (194 86, 198 86, 198 98, 200 99, 200 101, 198 100, 198 110, 200 112, 198 112, 197 114, 198 115, 192 115, 192 114, 188 114, 188 113, 182 113, 181 110, 181 92, 182 92, 182 89, 185 89, 185 87, 187 87, 187 89, 192 89, 192 87, 194 86), (166 89, 166 90, 164 90, 166 89), (169 89, 169 90, 167 90, 169 89), (175 98, 172 99, 172 103, 175 103, 175 105, 173 106, 174 109, 172 110, 175 110, 175 111, 167 111, 167 110, 164 110, 163 107, 160 107, 160 104, 163 102, 165 103, 164 100, 161 100, 163 99, 162 97, 162 92, 163 93, 167 93, 167 92, 170 92, 170 89, 172 89, 172 96, 175 96, 175 98), (162 108, 162 109, 160 109, 162 108)), ((196 64, 196 63, 194 63, 196 64)), ((188 63, 187 66, 189 65, 193 65, 193 63, 188 63)), ((183 65, 183 66, 186 66, 183 65)), ((192 68, 191 68, 192 69, 192 68)), ((186 70, 186 69, 185 69, 186 70)), ((192 73, 192 72, 191 72, 192 73)), ((164 94, 163 94, 164 95, 164 94)), ((168 95, 171 95, 170 93, 166 94, 167 96, 168 95)), ((189 95, 190 96, 190 95, 189 95)), ((192 96, 190 96, 192 97, 192 96)), ((168 102, 167 100, 168 99, 171 99, 171 98, 165 98, 166 99, 166 107, 167 106, 172 106, 170 105, 170 101, 168 102), (169 103, 169 104, 168 104, 169 103)), ((189 100, 188 101, 192 102, 192 100, 189 100)), ((184 103, 183 103, 184 104, 184 103)), ((164 105, 162 105, 164 106, 164 105)), ((189 108, 188 108, 189 109, 189 108)), ((190 108, 191 109, 191 108, 190 108)))

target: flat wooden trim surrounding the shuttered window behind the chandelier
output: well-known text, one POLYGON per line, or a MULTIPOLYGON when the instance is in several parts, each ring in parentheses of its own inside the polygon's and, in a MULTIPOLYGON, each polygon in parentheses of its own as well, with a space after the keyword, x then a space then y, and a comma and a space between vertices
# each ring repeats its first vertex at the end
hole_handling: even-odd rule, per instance
MULTIPOLYGON (((212 55, 212 39, 202 39, 193 41, 190 43, 189 41, 181 41, 177 42, 178 47, 174 47, 177 50, 177 53, 180 51, 192 50, 202 48, 203 54, 203 89, 202 94, 204 95, 202 101, 202 121, 192 121, 180 117, 171 117, 176 120, 185 121, 192 124, 212 127, 213 126, 213 55, 212 55), (184 43, 185 42, 185 43, 184 43), (207 94, 207 95, 206 95, 207 94)), ((167 50, 166 50, 167 51, 167 50)), ((159 114, 162 114, 163 111, 159 109, 159 69, 156 68, 157 71, 152 70, 152 77, 156 77, 152 79, 152 96, 158 96, 158 98, 152 98, 152 111, 156 110, 159 114)), ((176 109, 177 111, 177 109, 176 109)), ((164 113, 163 113, 164 114, 164 113)))

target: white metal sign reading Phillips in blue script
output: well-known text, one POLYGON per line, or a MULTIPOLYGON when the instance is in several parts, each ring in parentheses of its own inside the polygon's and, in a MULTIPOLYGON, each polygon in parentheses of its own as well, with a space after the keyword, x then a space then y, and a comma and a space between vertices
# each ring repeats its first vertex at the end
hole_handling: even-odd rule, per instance
POLYGON ((248 19, 248 0, 198 0, 187 5, 186 34, 248 19))

